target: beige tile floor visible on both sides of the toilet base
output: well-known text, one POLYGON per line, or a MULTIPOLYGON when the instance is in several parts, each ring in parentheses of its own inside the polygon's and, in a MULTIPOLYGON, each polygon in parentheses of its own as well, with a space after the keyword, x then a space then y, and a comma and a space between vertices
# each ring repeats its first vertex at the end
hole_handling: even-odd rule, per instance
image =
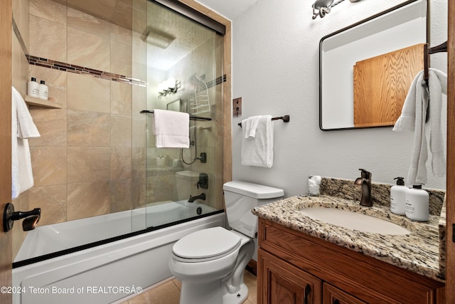
MULTIPOLYGON (((245 271, 245 283, 248 286, 248 298, 243 304, 256 304, 256 276, 245 271)), ((141 293, 122 304, 178 304, 180 300, 181 283, 173 279, 149 291, 141 293)))

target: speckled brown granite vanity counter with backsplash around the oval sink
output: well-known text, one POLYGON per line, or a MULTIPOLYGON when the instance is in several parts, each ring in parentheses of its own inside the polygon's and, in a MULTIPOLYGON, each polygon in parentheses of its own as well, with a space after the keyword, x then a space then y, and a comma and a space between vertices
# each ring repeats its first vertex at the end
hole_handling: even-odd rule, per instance
POLYGON ((376 190, 372 191, 373 197, 382 197, 375 200, 373 207, 360 206, 358 201, 360 196, 356 197, 358 192, 360 193, 360 188, 351 185, 353 181, 346 179, 323 179, 321 196, 293 196, 256 207, 252 213, 290 229, 444 282, 445 217, 442 218, 445 210, 444 192, 426 189, 432 197, 430 201, 433 205, 430 207, 432 214, 429 216, 429 221, 417 222, 390 212, 390 203, 385 201, 387 192, 390 197, 390 185, 373 185, 376 190), (338 187, 338 191, 334 191, 333 187, 338 187), (383 189, 383 192, 378 189, 383 189), (327 195, 328 193, 335 193, 336 196, 327 195), (299 212, 300 209, 314 206, 344 209, 386 219, 405 227, 411 231, 411 234, 384 235, 345 229, 310 219, 299 212))

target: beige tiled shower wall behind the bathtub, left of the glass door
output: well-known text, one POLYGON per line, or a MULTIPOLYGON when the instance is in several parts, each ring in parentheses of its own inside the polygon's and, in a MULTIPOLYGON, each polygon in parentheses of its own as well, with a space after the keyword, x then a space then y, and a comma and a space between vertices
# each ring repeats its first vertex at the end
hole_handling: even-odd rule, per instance
MULTIPOLYGON (((145 24, 145 5, 133 1, 125 16, 145 24)), ((132 29, 50 0, 30 0, 29 22, 31 56, 146 78, 146 45, 132 29)), ((63 105, 31 107, 41 137, 30 140, 35 185, 26 195, 29 209, 41 207, 40 225, 144 204, 146 88, 40 65, 29 75, 63 105)))

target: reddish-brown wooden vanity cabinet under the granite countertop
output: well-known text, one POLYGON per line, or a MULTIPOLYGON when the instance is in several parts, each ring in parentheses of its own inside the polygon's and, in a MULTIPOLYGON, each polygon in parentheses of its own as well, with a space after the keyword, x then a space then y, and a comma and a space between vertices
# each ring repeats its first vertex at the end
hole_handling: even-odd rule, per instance
POLYGON ((444 283, 259 218, 258 304, 445 303, 444 283))

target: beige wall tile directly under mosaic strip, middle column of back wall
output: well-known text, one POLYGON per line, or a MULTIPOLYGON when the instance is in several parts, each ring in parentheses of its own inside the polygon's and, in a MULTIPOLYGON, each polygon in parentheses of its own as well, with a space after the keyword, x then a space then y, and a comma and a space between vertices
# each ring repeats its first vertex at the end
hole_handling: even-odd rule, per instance
POLYGON ((68 109, 108 113, 110 81, 68 73, 68 109))

